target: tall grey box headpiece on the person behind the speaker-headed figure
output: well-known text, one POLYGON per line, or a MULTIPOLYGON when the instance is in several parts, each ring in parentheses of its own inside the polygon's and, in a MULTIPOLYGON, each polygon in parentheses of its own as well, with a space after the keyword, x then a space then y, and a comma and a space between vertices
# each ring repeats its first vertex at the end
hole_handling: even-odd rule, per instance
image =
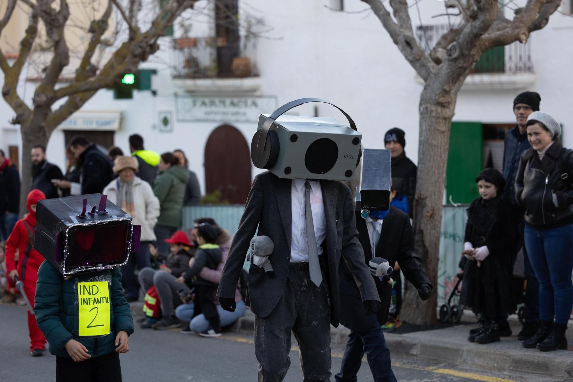
POLYGON ((356 188, 356 209, 367 219, 390 208, 392 186, 392 162, 390 150, 364 149, 362 153, 362 176, 356 188))

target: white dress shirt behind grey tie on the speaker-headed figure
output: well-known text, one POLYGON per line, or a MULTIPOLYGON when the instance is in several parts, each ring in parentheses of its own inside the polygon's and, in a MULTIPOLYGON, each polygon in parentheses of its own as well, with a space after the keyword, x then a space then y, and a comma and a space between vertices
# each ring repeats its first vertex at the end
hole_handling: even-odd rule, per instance
MULTIPOLYGON (((291 186, 291 263, 308 262, 307 232, 305 231, 306 217, 304 207, 307 203, 305 197, 306 179, 293 179, 291 186)), ((316 246, 319 255, 323 248, 320 244, 326 238, 326 219, 324 217, 324 204, 320 181, 308 181, 311 184, 311 210, 312 223, 315 225, 316 246)))

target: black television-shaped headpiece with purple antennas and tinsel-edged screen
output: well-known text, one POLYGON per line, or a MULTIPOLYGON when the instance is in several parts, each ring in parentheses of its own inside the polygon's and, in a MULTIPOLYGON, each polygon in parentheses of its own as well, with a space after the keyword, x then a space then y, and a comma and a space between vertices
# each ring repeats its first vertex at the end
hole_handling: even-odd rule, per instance
POLYGON ((35 248, 64 276, 120 267, 139 252, 140 225, 101 194, 46 199, 35 248))

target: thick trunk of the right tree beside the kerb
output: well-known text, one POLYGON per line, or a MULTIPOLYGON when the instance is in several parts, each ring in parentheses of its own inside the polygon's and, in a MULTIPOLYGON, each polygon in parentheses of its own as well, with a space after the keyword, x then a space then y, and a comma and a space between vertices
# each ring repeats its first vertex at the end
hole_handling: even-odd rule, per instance
POLYGON ((418 180, 414 200, 414 252, 422 259, 434 286, 428 301, 406 283, 401 310, 402 321, 414 325, 436 322, 438 292, 438 252, 441 237, 442 200, 446 180, 446 162, 450 127, 454 116, 457 91, 430 80, 424 87, 419 104, 418 180))

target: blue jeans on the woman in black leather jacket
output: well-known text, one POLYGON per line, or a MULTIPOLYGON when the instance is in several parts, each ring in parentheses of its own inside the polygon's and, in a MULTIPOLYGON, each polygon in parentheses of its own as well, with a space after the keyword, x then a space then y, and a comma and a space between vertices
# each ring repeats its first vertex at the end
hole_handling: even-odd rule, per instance
POLYGON ((567 324, 573 309, 573 224, 549 229, 525 224, 525 246, 539 280, 539 318, 567 324))

